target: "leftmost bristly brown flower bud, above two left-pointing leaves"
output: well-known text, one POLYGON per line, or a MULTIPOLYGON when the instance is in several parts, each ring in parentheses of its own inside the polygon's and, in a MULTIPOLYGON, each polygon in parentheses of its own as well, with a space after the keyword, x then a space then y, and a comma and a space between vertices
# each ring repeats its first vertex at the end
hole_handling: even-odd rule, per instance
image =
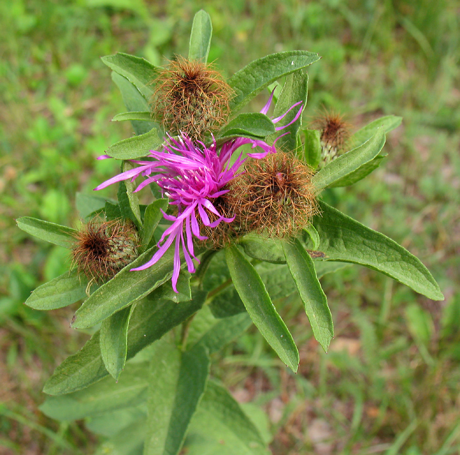
POLYGON ((137 257, 137 246, 129 221, 91 220, 75 234, 73 263, 89 280, 103 283, 137 257))

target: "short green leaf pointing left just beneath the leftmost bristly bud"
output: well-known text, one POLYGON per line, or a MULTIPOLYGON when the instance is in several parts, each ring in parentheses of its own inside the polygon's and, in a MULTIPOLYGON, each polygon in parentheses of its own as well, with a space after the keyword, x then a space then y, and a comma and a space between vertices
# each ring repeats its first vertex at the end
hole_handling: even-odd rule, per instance
POLYGON ((88 280, 78 276, 76 269, 38 286, 24 302, 30 308, 50 310, 71 305, 86 297, 88 280))

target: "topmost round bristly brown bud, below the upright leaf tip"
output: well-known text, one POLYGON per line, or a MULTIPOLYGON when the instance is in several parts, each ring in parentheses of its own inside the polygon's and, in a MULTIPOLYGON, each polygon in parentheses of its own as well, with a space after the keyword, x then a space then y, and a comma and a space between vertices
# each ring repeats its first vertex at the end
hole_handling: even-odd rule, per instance
POLYGON ((166 132, 196 140, 224 123, 232 89, 209 64, 178 57, 153 83, 152 116, 166 132))

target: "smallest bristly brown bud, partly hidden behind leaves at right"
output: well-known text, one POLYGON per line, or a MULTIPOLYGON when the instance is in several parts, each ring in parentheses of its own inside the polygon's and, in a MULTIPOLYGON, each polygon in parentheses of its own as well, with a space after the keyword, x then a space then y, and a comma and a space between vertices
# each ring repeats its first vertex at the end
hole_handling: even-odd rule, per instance
POLYGON ((350 135, 350 125, 342 115, 325 111, 312 123, 321 132, 321 161, 319 166, 336 159, 350 135))

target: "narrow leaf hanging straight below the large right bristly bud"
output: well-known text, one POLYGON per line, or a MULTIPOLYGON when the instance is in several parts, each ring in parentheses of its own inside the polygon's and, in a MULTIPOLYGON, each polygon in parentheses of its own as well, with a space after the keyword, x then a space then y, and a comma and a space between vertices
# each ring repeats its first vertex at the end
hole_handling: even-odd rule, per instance
POLYGON ((293 244, 283 242, 283 249, 292 278, 305 305, 313 334, 327 352, 334 337, 334 327, 328 300, 316 277, 313 259, 298 240, 293 244))

